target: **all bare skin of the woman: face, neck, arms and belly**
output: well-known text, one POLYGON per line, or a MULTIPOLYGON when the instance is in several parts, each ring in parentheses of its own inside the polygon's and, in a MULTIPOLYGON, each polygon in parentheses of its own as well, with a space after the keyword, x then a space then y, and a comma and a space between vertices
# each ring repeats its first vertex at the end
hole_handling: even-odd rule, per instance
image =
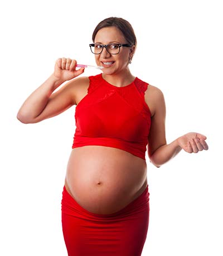
MULTIPOLYGON (((115 27, 99 30, 95 42, 127 43, 122 32, 115 27)), ((118 55, 110 55, 106 49, 95 55, 96 65, 99 66, 101 62, 114 61, 103 69, 103 79, 117 87, 132 83, 135 77, 130 73, 129 60, 134 51, 135 46, 121 47, 118 55)), ((76 60, 57 59, 54 73, 22 104, 18 120, 37 123, 78 105, 87 95, 89 87, 88 77, 76 78, 83 72, 84 68, 76 70, 76 60), (70 81, 53 93, 67 80, 70 81)), ((154 166, 162 166, 182 149, 188 153, 208 149, 206 137, 196 132, 184 134, 167 144, 166 105, 162 91, 149 85, 144 99, 151 110, 148 157, 154 166)), ((146 161, 129 152, 103 146, 84 146, 71 151, 65 186, 77 203, 91 212, 110 214, 118 211, 142 194, 147 184, 146 161)))

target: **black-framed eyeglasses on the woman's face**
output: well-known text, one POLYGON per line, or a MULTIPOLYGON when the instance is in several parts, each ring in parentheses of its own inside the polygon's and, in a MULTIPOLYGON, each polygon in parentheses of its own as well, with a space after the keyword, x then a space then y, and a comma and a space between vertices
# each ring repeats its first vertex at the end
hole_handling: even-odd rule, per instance
POLYGON ((109 54, 119 54, 120 47, 122 47, 122 46, 131 47, 132 45, 129 45, 129 44, 108 44, 108 45, 90 44, 89 46, 90 46, 91 52, 93 54, 101 54, 104 47, 109 54))

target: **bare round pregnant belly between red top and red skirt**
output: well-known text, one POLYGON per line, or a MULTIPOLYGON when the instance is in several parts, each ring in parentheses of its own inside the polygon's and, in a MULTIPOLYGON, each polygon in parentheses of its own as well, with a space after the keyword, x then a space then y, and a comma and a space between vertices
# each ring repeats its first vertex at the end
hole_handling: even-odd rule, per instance
POLYGON ((146 161, 118 148, 74 148, 67 164, 65 187, 84 209, 112 214, 146 189, 146 161))

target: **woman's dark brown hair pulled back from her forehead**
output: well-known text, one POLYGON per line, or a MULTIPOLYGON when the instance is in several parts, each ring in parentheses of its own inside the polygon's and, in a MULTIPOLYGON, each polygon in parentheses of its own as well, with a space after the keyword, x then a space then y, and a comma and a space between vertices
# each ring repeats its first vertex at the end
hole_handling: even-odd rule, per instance
POLYGON ((128 44, 135 46, 137 45, 137 40, 132 25, 130 25, 130 23, 123 18, 118 17, 105 18, 105 20, 99 22, 92 35, 93 42, 95 40, 96 33, 98 33, 98 31, 104 27, 117 27, 123 33, 123 36, 128 44))

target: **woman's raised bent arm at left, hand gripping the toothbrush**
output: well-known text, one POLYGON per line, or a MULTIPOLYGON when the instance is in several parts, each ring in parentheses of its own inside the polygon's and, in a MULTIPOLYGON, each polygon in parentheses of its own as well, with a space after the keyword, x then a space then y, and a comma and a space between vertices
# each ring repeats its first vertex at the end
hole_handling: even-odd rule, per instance
POLYGON ((76 61, 69 58, 57 59, 54 73, 28 96, 18 110, 17 119, 22 123, 37 123, 54 117, 75 104, 75 86, 83 78, 71 80, 52 94, 62 83, 82 74, 84 68, 76 70, 76 61))

